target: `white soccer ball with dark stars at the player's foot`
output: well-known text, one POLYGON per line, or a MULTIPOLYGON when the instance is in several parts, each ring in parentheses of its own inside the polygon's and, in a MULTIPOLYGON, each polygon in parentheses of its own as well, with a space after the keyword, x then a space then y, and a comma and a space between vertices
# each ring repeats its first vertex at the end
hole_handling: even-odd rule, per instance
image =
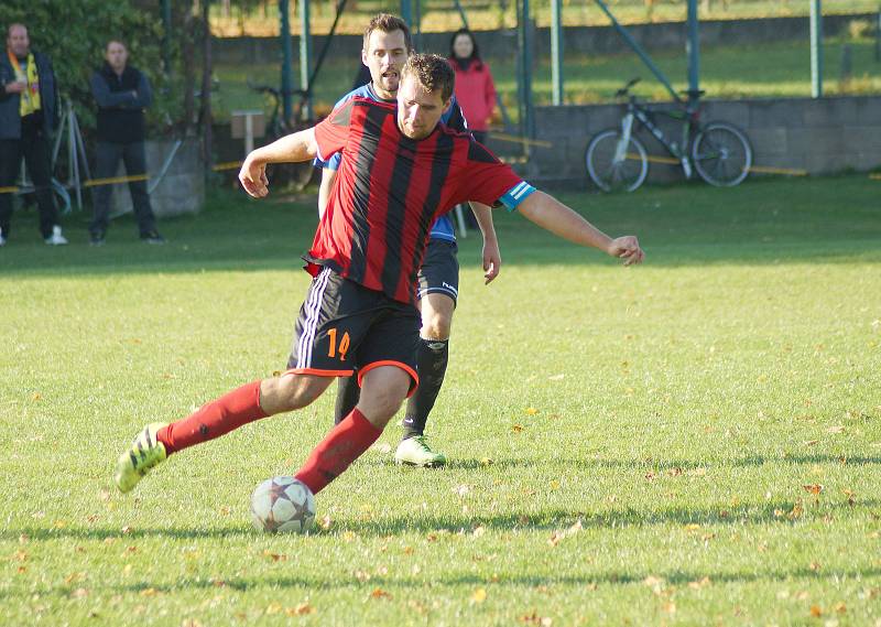
POLYGON ((315 497, 294 477, 272 477, 251 494, 251 521, 259 531, 304 533, 315 523, 315 497))

